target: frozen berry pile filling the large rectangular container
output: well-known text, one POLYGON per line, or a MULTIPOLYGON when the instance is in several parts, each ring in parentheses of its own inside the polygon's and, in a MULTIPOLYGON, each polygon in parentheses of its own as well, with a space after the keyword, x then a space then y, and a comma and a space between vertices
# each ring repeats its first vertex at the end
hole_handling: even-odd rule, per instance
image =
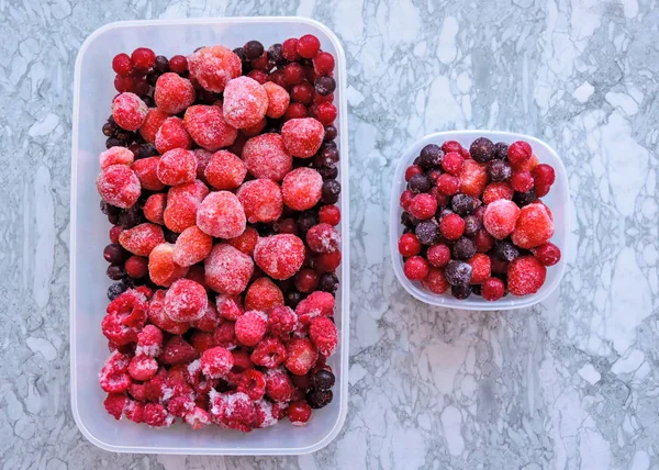
POLYGON ((332 401, 340 184, 320 47, 112 60, 97 188, 116 282, 99 378, 116 419, 249 432, 332 401))

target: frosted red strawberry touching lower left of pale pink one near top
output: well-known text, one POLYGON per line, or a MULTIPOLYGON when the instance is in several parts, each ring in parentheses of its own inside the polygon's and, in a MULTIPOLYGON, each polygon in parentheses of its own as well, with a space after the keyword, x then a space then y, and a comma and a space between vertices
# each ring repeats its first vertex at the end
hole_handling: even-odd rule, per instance
POLYGON ((197 104, 186 110, 183 118, 186 131, 197 145, 215 152, 232 145, 238 131, 224 121, 222 108, 197 104))

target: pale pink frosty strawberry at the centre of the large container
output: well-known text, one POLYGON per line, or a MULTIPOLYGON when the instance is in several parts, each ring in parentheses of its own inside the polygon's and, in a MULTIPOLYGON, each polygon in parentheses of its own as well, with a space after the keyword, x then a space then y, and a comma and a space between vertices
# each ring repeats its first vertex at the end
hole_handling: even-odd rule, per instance
POLYGON ((214 237, 234 238, 245 231, 246 223, 243 204, 228 191, 211 192, 197 211, 197 225, 214 237))

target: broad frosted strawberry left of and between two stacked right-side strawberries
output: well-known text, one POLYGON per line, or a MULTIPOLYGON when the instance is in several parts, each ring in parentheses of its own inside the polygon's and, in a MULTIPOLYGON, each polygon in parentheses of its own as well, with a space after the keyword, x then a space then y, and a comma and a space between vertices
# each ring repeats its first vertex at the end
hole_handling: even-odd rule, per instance
POLYGON ((254 177, 270 178, 277 182, 293 167, 293 157, 279 134, 263 134, 248 139, 243 147, 243 160, 254 177))

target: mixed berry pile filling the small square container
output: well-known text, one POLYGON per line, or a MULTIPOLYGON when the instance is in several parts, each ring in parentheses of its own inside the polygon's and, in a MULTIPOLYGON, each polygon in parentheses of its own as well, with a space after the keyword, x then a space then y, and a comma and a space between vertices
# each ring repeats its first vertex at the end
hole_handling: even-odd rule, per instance
POLYGON ((523 141, 426 145, 405 170, 400 199, 405 277, 460 300, 537 292, 560 259, 549 242, 551 211, 539 199, 555 178, 523 141))

